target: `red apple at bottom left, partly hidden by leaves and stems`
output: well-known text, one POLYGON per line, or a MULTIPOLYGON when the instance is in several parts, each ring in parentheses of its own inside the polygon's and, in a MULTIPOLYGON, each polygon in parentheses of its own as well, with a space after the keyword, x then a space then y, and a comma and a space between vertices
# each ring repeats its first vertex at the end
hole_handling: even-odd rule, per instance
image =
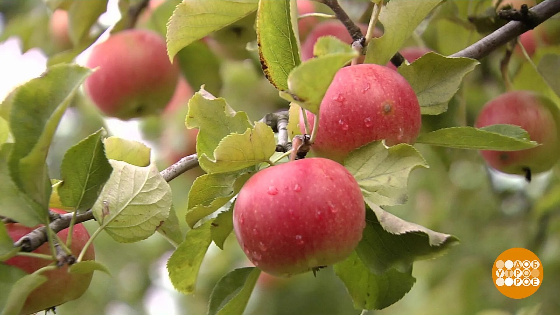
MULTIPOLYGON (((57 212, 58 214, 66 213, 58 209, 51 210, 57 212)), ((35 228, 37 228, 37 226, 35 228)), ((6 224, 8 234, 10 234, 10 237, 14 242, 35 228, 29 228, 17 223, 6 224)), ((66 241, 66 238, 68 237, 68 229, 59 231, 57 235, 60 239, 66 241)), ((80 254, 83 245, 86 244, 88 239, 90 239, 90 234, 87 233, 86 228, 82 224, 76 224, 72 234, 71 246, 71 251, 76 257, 80 254)), ((33 252, 48 255, 51 254, 48 243, 41 245, 33 252)), ((83 260, 95 260, 95 251, 93 246, 87 248, 86 254, 83 256, 83 260)), ((39 268, 49 265, 51 262, 52 261, 40 258, 15 256, 7 260, 5 263, 10 266, 18 267, 28 274, 31 274, 39 268)), ((25 301, 21 314, 40 312, 44 309, 55 307, 68 301, 80 298, 82 294, 85 293, 88 286, 90 286, 93 272, 90 274, 69 274, 68 266, 64 266, 57 270, 46 271, 43 275, 48 277, 49 280, 31 292, 25 301)))

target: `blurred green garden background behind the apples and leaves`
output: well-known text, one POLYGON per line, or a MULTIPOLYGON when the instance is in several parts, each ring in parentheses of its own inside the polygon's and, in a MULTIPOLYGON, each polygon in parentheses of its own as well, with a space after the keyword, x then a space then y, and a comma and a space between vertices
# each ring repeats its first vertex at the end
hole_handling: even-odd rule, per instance
MULTIPOLYGON (((146 16, 138 26, 164 32, 162 25, 177 2, 170 0, 152 10, 153 16, 146 16)), ((362 16, 367 17, 363 15, 368 10, 367 1, 341 2, 354 20, 364 21, 362 16)), ((115 1, 109 2, 109 8, 99 20, 100 32, 115 22, 115 14, 118 16, 115 1)), ((329 12, 324 6, 316 8, 329 12)), ((500 24, 491 18, 493 10, 490 0, 448 0, 406 45, 426 46, 441 54, 457 52, 500 24)), ((43 1, 0 0, 0 13, 0 42, 18 38, 22 52, 39 48, 49 62, 58 60, 55 58, 61 58, 61 54, 68 58, 64 57, 68 56, 64 49, 55 47, 48 33, 52 11, 43 1)), ((539 26, 547 30, 552 43, 542 45, 538 41, 535 63, 545 52, 560 53, 560 47, 554 45, 560 41, 555 33, 560 30, 558 21, 554 18, 539 26)), ((206 84, 209 91, 225 98, 235 110, 248 112, 255 121, 265 113, 287 108, 286 101, 278 97, 260 69, 250 18, 232 27, 212 35, 208 45, 195 43, 180 52, 184 76, 194 90, 206 84), (236 40, 228 34, 234 31, 232 27, 237 27, 236 34, 242 30, 236 40)), ((0 45, 2 59, 9 52, 8 45, 0 45)), ((70 55, 71 52, 72 49, 70 55)), ((484 103, 505 91, 499 66, 504 53, 504 49, 498 49, 484 58, 465 78, 446 113, 424 117, 423 132, 472 126, 484 103)), ((18 70, 7 68, 6 62, 0 61, 0 65, 4 67, 0 68, 0 83, 8 84, 18 70)), ((521 54, 514 53, 510 71, 516 89, 536 89, 553 95, 521 54)), ((192 153, 185 151, 193 141, 184 129, 185 110, 186 101, 176 112, 163 117, 121 122, 102 118, 85 95, 78 95, 53 141, 49 156, 51 177, 59 178, 60 160, 70 146, 103 126, 113 135, 147 143, 163 169, 178 157, 192 153)), ((391 307, 370 314, 560 314, 560 167, 536 176, 528 184, 522 178, 488 170, 477 151, 424 145, 417 145, 417 149, 426 157, 430 169, 412 173, 406 205, 386 210, 407 221, 453 234, 461 242, 442 257, 415 263, 413 276, 417 281, 410 293, 391 307), (543 283, 529 298, 507 298, 492 282, 494 260, 512 247, 530 249, 543 263, 543 283)), ((191 170, 170 183, 180 219, 185 214, 189 186, 199 174, 200 170, 191 170)), ((94 231, 97 224, 85 225, 94 231)), ((187 229, 183 222, 183 231, 187 229)), ((87 293, 58 307, 57 314, 204 314, 218 279, 234 268, 250 265, 230 235, 225 251, 211 245, 198 276, 197 293, 185 296, 175 291, 167 278, 165 264, 172 249, 158 234, 142 242, 119 244, 102 233, 95 241, 96 256, 109 267, 113 277, 96 272, 87 293)), ((311 273, 291 279, 263 275, 246 313, 334 315, 360 311, 353 309, 346 289, 329 267, 316 277, 311 273)))

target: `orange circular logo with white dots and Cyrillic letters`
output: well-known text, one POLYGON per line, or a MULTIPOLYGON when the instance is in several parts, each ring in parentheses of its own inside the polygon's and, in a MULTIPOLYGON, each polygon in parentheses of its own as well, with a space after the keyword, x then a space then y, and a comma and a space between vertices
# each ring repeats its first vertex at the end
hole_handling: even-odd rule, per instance
POLYGON ((543 282, 543 265, 529 249, 510 248, 494 261, 492 279, 498 291, 506 297, 526 298, 543 282))

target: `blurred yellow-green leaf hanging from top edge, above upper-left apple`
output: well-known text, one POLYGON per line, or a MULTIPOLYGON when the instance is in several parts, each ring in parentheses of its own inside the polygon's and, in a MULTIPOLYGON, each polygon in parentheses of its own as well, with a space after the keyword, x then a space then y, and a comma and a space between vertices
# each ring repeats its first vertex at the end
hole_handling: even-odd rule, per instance
POLYGON ((74 46, 87 40, 91 26, 107 11, 108 0, 73 1, 68 10, 68 33, 74 46))

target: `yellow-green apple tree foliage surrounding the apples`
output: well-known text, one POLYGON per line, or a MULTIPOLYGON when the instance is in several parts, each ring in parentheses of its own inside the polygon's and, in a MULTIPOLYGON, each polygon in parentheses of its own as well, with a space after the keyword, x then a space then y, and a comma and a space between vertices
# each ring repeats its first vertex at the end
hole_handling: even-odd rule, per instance
MULTIPOLYGON (((53 7, 62 2, 48 1, 53 7)), ((379 16, 384 35, 370 41, 365 62, 386 64, 442 2, 391 0, 379 16)), ((130 3, 122 0, 119 6, 127 12, 130 3)), ((153 163, 150 149, 107 137, 104 129, 71 147, 60 165, 61 178, 49 178, 46 158, 60 118, 91 74, 71 61, 95 39, 88 34, 105 7, 106 1, 72 2, 69 25, 75 48, 50 58, 52 65, 42 76, 18 87, 0 106, 0 215, 34 226, 49 223, 49 206, 74 213, 91 209, 99 224, 92 239, 107 233, 116 242, 131 243, 158 232, 176 247, 167 262, 172 284, 181 293, 193 294, 208 247, 214 242, 223 249, 232 232, 232 202, 243 184, 259 170, 288 161, 275 152, 276 136, 267 124, 251 122, 246 113, 236 112, 226 99, 213 95, 221 82, 187 75, 193 86, 205 85, 190 99, 185 125, 199 130, 197 156, 206 174, 194 181, 184 218, 175 214, 173 192, 153 163), (186 234, 179 219, 190 226, 186 234)), ((198 40, 255 13, 263 72, 279 95, 291 102, 288 135, 293 138, 300 133, 300 110, 319 113, 335 73, 358 56, 349 45, 325 37, 315 45, 318 57, 301 62, 295 0, 169 0, 155 10, 150 23, 166 35, 171 60, 180 60, 186 52, 198 56, 181 63, 184 73, 193 73, 197 67, 217 71, 213 57, 198 40)), ((112 31, 122 29, 126 18, 123 15, 112 31)), ((542 82, 513 84, 558 101, 560 85, 554 71, 560 70, 558 55, 543 53, 535 60, 538 68, 524 64, 520 71, 539 71, 535 81, 542 82)), ((398 72, 416 92, 422 114, 438 115, 446 112, 463 78, 478 64, 470 58, 428 53, 403 64, 398 72)), ((538 145, 524 130, 510 125, 442 128, 423 133, 417 143, 502 151, 538 145)), ((438 257, 459 240, 404 221, 382 208, 406 203, 409 174, 430 167, 413 145, 388 147, 381 141, 372 142, 351 152, 344 166, 363 193, 366 228, 356 250, 335 264, 334 271, 356 309, 382 309, 402 299, 418 281, 412 276, 415 261, 438 257)), ((540 209, 548 211, 550 206, 543 201, 540 209)), ((0 224, 2 261, 18 250, 0 224)), ((100 262, 80 262, 80 257, 69 272, 93 270, 109 272, 100 262)), ((0 265, 0 274, 2 314, 17 314, 27 294, 45 281, 40 272, 24 275, 4 265, 0 265)), ((208 314, 242 314, 259 274, 258 267, 245 267, 224 275, 212 291, 208 314)))

